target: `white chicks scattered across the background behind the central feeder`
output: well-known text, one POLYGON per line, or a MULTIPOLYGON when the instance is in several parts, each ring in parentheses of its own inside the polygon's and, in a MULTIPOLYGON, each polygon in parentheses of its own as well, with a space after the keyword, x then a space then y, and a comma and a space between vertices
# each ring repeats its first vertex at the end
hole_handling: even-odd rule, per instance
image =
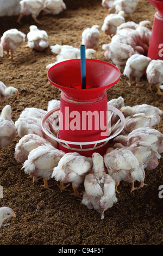
MULTIPOLYGON (((55 6, 56 9, 59 8, 60 5, 64 5, 62 0, 22 0, 20 2, 21 16, 23 11, 25 15, 28 8, 30 9, 30 11, 27 11, 28 15, 31 13, 35 13, 36 15, 37 8, 34 2, 38 9, 41 3, 43 7, 45 7, 45 4, 49 4, 51 8, 55 6)), ((138 24, 134 21, 125 22, 124 19, 126 14, 131 16, 131 14, 134 13, 138 2, 138 0, 102 1, 102 5, 109 9, 109 12, 111 10, 117 11, 117 13, 111 13, 104 19, 101 29, 111 38, 111 42, 103 44, 102 49, 105 51, 105 58, 116 65, 121 72, 123 72, 123 75, 129 78, 130 85, 132 84, 132 78, 135 78, 136 85, 141 87, 140 79, 146 73, 148 86, 145 88, 152 91, 152 85, 154 84, 157 89, 156 94, 163 95, 161 92, 161 89, 163 89, 163 60, 152 60, 146 56, 152 34, 152 23, 150 21, 141 21, 138 24)), ((59 8, 59 12, 63 11, 65 8, 62 6, 62 9, 59 8)), ((53 14, 56 13, 57 11, 54 12, 53 9, 53 14)), ((38 14, 39 12, 37 11, 37 15, 38 14)), ((20 19, 18 20, 20 21, 20 19)), ((90 28, 84 29, 82 33, 82 44, 86 47, 86 58, 97 58, 96 51, 98 50, 100 39, 99 29, 99 25, 93 25, 90 28)), ((11 51, 11 60, 13 60, 14 50, 25 41, 25 38, 26 35, 16 28, 4 32, 1 38, 1 46, 3 50, 7 51, 8 56, 9 51, 11 51)), ((36 51, 43 51, 49 46, 47 32, 38 29, 34 25, 29 27, 27 41, 27 45, 36 51)), ((50 48, 52 53, 57 54, 57 61, 46 65, 47 69, 58 62, 80 58, 79 48, 59 44, 52 45, 50 48)))

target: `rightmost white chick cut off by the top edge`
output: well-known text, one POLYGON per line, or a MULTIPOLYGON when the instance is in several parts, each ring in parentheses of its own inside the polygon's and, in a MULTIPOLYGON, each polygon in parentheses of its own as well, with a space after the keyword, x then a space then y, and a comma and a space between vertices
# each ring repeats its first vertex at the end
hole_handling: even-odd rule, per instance
POLYGON ((114 5, 117 12, 123 10, 131 19, 131 15, 134 13, 138 2, 139 0, 116 0, 114 5))

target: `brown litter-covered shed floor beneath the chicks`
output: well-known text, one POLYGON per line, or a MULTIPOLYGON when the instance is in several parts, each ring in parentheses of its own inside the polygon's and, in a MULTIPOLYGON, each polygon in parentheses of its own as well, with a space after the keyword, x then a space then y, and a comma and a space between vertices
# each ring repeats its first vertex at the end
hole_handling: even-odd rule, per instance
MULTIPOLYGON (((82 31, 86 27, 103 25, 108 11, 101 5, 101 0, 65 0, 67 9, 59 15, 43 15, 38 19, 42 25, 36 25, 32 17, 23 17, 21 25, 17 16, 0 17, 0 35, 10 28, 17 28, 23 33, 29 32, 30 25, 47 31, 49 45, 72 45, 80 47, 82 31)), ((147 0, 139 0, 133 14, 133 21, 150 20, 153 22, 155 9, 147 0)), ((128 21, 128 18, 126 18, 128 21)), ((0 59, 0 80, 6 86, 14 86, 20 96, 11 97, 1 103, 2 108, 12 107, 12 120, 16 121, 26 107, 47 110, 47 103, 60 99, 60 91, 47 84, 46 65, 56 60, 55 54, 48 47, 37 52, 24 42, 14 53, 13 62, 4 57, 0 59)), ((101 31, 97 59, 107 61, 102 45, 109 43, 109 38, 101 31)), ((108 100, 122 96, 125 104, 134 106, 147 103, 161 110, 163 97, 145 88, 129 86, 128 79, 121 75, 120 81, 111 87, 108 100)), ((146 76, 141 84, 147 85, 146 76)), ((163 117, 154 127, 163 132, 163 117)), ((21 170, 22 165, 15 161, 15 145, 20 138, 7 148, 1 149, 0 185, 3 198, 0 206, 9 206, 16 212, 16 218, 5 220, 0 230, 0 245, 162 245, 163 244, 163 199, 159 198, 159 186, 163 185, 163 158, 159 166, 146 172, 148 186, 130 193, 129 184, 121 182, 118 202, 104 213, 104 220, 95 210, 89 210, 70 192, 60 192, 57 182, 50 179, 54 191, 46 190, 39 184, 27 179, 21 170), (9 223, 9 224, 8 224, 9 223), (8 224, 8 225, 4 225, 8 224)), ((72 188, 71 188, 72 189, 72 188)), ((83 187, 80 187, 83 190, 83 187)))

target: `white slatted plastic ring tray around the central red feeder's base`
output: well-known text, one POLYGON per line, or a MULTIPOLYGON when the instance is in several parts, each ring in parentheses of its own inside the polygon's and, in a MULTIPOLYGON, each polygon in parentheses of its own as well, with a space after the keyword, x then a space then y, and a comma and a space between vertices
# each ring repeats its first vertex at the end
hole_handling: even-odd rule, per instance
POLYGON ((91 142, 71 142, 71 141, 65 141, 63 139, 59 139, 59 129, 55 129, 52 123, 53 120, 53 114, 54 112, 59 112, 60 107, 54 108, 51 111, 49 111, 43 118, 42 118, 42 130, 45 133, 45 135, 51 140, 51 141, 57 141, 62 147, 74 150, 74 151, 89 151, 89 150, 95 150, 98 148, 103 147, 110 139, 115 138, 118 136, 123 128, 124 128, 124 123, 125 123, 125 118, 124 115, 120 110, 118 110, 115 107, 109 106, 108 105, 108 111, 110 112, 110 117, 108 118, 108 123, 109 125, 111 124, 111 118, 114 115, 116 117, 116 123, 113 124, 110 128, 110 135, 105 138, 101 139, 100 141, 91 141, 91 142), (54 134, 55 132, 55 134, 54 134), (99 143, 102 143, 101 145, 97 145, 99 143), (80 148, 72 148, 70 145, 79 145, 80 148), (93 145, 93 147, 90 148, 82 148, 83 145, 93 145))

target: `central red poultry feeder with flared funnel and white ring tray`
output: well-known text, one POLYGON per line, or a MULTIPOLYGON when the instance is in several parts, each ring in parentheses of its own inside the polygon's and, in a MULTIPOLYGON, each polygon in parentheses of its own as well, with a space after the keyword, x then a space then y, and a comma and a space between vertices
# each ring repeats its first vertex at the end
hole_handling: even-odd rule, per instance
POLYGON ((48 80, 59 90, 60 108, 48 112, 42 119, 42 130, 59 143, 65 153, 77 151, 91 156, 95 151, 104 155, 109 139, 117 136, 124 127, 124 116, 107 104, 107 94, 119 79, 121 72, 116 66, 101 60, 86 59, 86 88, 81 88, 80 59, 71 59, 55 64, 47 72, 48 80), (59 111, 59 129, 51 123, 52 130, 46 129, 49 117, 59 111), (109 111, 108 111, 109 110, 109 111), (117 114, 117 121, 109 127, 111 117, 117 114), (117 129, 115 129, 117 125, 117 129))

